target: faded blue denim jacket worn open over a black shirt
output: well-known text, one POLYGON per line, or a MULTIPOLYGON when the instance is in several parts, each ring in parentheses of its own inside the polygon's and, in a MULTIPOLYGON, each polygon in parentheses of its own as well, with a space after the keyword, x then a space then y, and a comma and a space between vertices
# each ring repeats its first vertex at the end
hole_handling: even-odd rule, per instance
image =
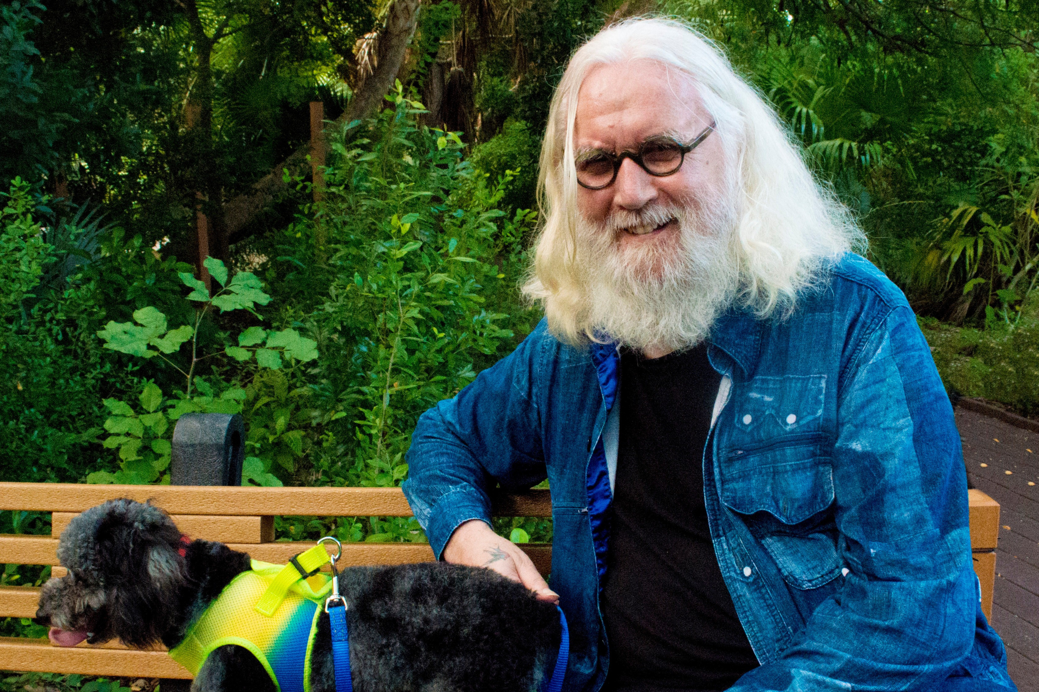
MULTIPOLYGON (((793 315, 730 311, 703 450, 715 554, 764 690, 1013 690, 980 608, 960 438, 905 296, 845 256, 793 315)), ((490 520, 488 490, 549 479, 551 586, 570 621, 566 690, 609 666, 598 607, 621 394, 615 346, 544 322, 420 419, 404 491, 436 556, 490 520)))

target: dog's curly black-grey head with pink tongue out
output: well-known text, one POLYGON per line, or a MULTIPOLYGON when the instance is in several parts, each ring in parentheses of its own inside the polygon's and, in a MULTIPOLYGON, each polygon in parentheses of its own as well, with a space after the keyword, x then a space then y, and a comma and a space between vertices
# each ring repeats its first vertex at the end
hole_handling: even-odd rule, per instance
POLYGON ((61 532, 58 560, 69 569, 39 594, 36 621, 60 646, 118 637, 133 646, 159 641, 187 584, 181 532, 152 504, 111 500, 61 532))

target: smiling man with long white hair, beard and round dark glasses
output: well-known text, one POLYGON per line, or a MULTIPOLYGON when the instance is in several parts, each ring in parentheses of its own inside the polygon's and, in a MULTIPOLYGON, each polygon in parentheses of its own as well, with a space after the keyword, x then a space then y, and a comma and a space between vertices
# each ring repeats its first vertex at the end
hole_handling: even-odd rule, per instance
POLYGON ((408 453, 437 557, 558 598, 568 690, 1014 689, 913 314, 718 51, 602 31, 540 182, 545 320, 408 453), (545 478, 552 589, 488 524, 545 478))

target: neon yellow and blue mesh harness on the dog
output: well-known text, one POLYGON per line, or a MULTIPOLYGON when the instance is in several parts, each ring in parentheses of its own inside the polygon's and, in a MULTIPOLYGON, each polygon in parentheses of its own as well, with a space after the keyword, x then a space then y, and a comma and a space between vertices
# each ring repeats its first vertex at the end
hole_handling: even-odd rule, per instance
POLYGON ((244 646, 281 692, 310 692, 318 615, 331 592, 331 577, 317 573, 326 562, 321 544, 286 565, 252 560, 252 569, 231 580, 169 656, 197 675, 218 646, 244 646))

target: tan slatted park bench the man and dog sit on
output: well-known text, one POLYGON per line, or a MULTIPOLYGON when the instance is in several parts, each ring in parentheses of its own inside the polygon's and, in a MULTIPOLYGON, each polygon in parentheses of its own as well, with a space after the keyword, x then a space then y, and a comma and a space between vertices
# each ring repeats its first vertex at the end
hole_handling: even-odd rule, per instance
MULTIPOLYGON (((237 417, 236 417, 237 418, 237 417)), ((265 562, 286 563, 312 545, 305 541, 274 541, 275 515, 303 516, 410 516, 411 509, 399 488, 241 487, 240 420, 216 417, 215 448, 178 441, 175 433, 174 480, 185 476, 209 480, 222 478, 229 486, 206 485, 83 485, 61 483, 0 483, 0 510, 52 512, 50 536, 0 535, 0 563, 55 565, 52 575, 64 569, 55 556, 58 536, 77 513, 115 498, 153 500, 165 509, 178 527, 192 538, 219 540, 265 562), (236 427, 237 432, 233 428, 236 427), (227 433, 228 440, 219 440, 227 433), (240 436, 238 437, 240 442, 240 436), (224 454, 219 453, 220 444, 224 454), (179 453, 177 452, 179 450, 179 453), (180 457, 180 458, 178 458, 180 457), (203 463, 198 463, 199 460, 203 463), (237 478, 235 464, 237 463, 237 478), (192 471, 192 465, 195 467, 192 471), (213 469, 216 469, 214 472, 213 469), (231 473, 228 472, 231 468, 231 473)), ((212 432, 212 430, 211 430, 212 432)), ((183 435, 182 435, 183 436, 183 435)), ((205 435, 203 435, 205 436, 205 435)), ((213 434, 210 437, 214 437, 213 434)), ((190 478, 186 479, 188 482, 190 478)), ((982 585, 986 615, 991 612, 995 578, 995 543, 1000 529, 1000 506, 977 489, 970 494, 970 542, 974 566, 982 585)), ((549 490, 495 499, 496 516, 551 516, 549 490)), ((549 544, 526 543, 521 548, 542 575, 552 563, 549 544)), ((339 566, 402 564, 433 559, 426 543, 344 543, 339 566)), ((0 617, 33 617, 39 589, 27 586, 0 587, 0 617)), ((0 637, 0 669, 58 673, 83 673, 110 677, 164 678, 163 690, 177 689, 174 681, 190 680, 190 673, 164 650, 133 650, 118 642, 98 646, 85 643, 72 648, 52 646, 47 639, 0 637)), ((183 685, 183 684, 181 684, 183 685)))

